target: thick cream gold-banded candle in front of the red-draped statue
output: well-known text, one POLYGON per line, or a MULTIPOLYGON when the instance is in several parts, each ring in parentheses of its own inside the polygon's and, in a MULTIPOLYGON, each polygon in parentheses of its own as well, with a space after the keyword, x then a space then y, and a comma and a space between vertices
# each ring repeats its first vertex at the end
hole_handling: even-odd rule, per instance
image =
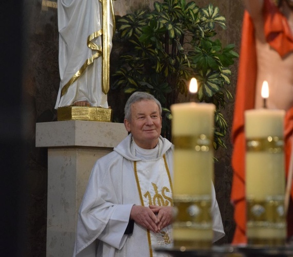
POLYGON ((285 112, 245 112, 247 237, 252 245, 284 245, 285 112))

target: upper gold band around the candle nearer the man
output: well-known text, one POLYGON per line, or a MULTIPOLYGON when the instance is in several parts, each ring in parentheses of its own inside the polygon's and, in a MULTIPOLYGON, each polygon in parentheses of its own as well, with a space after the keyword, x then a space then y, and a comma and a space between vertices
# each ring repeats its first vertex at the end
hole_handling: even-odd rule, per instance
POLYGON ((212 150, 213 140, 205 134, 192 136, 174 136, 175 149, 195 150, 196 152, 209 152, 212 150))

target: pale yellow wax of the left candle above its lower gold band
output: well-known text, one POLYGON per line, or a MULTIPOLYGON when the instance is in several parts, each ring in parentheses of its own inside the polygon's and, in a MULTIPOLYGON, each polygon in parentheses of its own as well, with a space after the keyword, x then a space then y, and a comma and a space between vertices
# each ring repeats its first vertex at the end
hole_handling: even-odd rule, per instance
MULTIPOLYGON (((176 148, 174 151, 174 194, 211 193, 213 174, 213 104, 179 103, 171 106, 173 138, 205 135, 209 151, 176 148)), ((195 145, 194 145, 195 146, 195 145)))

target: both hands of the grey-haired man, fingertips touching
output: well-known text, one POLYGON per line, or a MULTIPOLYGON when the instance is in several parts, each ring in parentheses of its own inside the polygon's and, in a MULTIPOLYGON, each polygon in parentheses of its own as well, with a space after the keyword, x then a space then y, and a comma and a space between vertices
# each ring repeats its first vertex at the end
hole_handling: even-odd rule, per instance
POLYGON ((171 206, 149 205, 149 207, 143 207, 134 205, 130 218, 142 227, 158 233, 172 223, 172 208, 171 206))

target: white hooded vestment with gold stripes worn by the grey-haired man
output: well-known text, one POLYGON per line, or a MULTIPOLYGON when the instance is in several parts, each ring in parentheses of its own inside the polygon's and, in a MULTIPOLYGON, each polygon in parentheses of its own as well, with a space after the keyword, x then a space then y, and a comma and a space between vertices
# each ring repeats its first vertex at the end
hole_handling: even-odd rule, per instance
MULTIPOLYGON (((173 146, 165 138, 160 137, 159 141, 158 158, 144 160, 137 157, 132 150, 130 134, 112 153, 96 162, 79 211, 74 256, 147 257, 150 251, 153 256, 164 256, 149 247, 149 240, 151 238, 153 244, 157 237, 153 246, 172 244, 172 238, 171 242, 166 242, 164 236, 168 235, 169 238, 171 226, 166 227, 161 234, 153 234, 134 223, 133 233, 124 234, 132 206, 142 205, 142 199, 144 206, 171 205, 172 182, 166 179, 166 174, 170 174, 169 178, 173 177, 173 146), (165 182, 153 182, 157 177, 162 177, 165 182)), ((214 188, 212 215, 215 242, 225 233, 214 188)))

